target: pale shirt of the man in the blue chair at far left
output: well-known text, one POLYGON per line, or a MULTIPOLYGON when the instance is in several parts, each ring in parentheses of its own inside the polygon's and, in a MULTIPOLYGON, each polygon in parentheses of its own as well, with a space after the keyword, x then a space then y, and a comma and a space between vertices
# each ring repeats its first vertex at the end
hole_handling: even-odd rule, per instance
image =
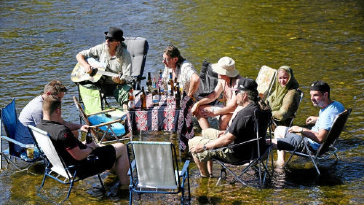
MULTIPOLYGON (((43 119, 42 111, 43 97, 37 96, 23 108, 16 124, 14 139, 24 144, 34 144, 34 140, 28 130, 28 125, 36 126, 43 119)), ((20 146, 14 147, 15 151, 23 150, 20 146)))

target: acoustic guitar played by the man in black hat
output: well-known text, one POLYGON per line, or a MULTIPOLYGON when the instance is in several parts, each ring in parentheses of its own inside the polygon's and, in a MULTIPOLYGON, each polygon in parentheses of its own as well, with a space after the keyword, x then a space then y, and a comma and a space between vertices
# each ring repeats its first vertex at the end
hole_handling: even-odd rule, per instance
MULTIPOLYGON (((102 76, 110 76, 114 77, 118 74, 111 73, 106 70, 106 63, 101 63, 96 61, 94 58, 87 58, 86 61, 90 66, 92 67, 92 71, 90 74, 85 72, 84 67, 80 65, 80 63, 77 63, 75 68, 72 70, 71 73, 71 81, 73 82, 82 82, 82 81, 91 81, 91 82, 97 82, 100 80, 102 76)), ((125 80, 128 84, 132 84, 135 82, 135 78, 131 76, 121 76, 120 79, 125 80)))

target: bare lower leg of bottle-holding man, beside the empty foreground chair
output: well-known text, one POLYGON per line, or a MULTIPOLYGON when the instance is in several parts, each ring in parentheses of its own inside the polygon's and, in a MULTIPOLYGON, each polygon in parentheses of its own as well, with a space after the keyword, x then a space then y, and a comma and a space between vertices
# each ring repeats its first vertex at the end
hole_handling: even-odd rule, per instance
POLYGON ((116 162, 113 169, 115 169, 120 183, 128 184, 130 181, 128 177, 129 162, 126 146, 123 143, 114 143, 112 146, 115 147, 116 151, 116 162))

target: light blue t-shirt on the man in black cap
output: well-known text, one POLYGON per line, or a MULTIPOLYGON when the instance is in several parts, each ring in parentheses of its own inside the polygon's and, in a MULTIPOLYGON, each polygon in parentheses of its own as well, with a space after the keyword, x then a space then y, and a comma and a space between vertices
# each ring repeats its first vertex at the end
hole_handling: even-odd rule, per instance
MULTIPOLYGON (((319 129, 326 129, 327 131, 329 131, 331 129, 333 121, 335 120, 335 117, 339 115, 341 112, 344 112, 344 110, 345 108, 343 104, 337 101, 333 101, 326 108, 321 109, 320 112, 318 112, 318 118, 316 124, 312 127, 311 130, 314 132, 318 132, 319 129)), ((319 143, 314 142, 309 138, 308 142, 310 143, 310 146, 315 150, 317 150, 318 147, 320 147, 319 143)))

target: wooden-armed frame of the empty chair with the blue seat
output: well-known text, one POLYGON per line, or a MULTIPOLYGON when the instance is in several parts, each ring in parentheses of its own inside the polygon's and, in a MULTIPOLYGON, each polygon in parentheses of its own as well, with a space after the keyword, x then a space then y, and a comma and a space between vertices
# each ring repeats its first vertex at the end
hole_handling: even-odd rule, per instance
POLYGON ((78 109, 78 111, 80 113, 80 118, 84 121, 84 123, 86 123, 87 125, 90 126, 90 129, 92 130, 91 131, 91 134, 94 137, 95 142, 97 142, 98 144, 101 144, 101 143, 110 143, 110 142, 120 142, 120 140, 130 139, 130 138, 122 138, 122 139, 119 139, 118 138, 118 135, 116 135, 116 133, 112 129, 112 124, 114 124, 114 123, 124 123, 125 120, 115 119, 115 120, 112 120, 112 121, 109 121, 109 122, 106 122, 106 123, 100 123, 100 124, 97 124, 97 125, 92 125, 90 123, 90 120, 88 120, 88 117, 90 117, 92 115, 99 115, 99 114, 104 114, 104 113, 108 113, 108 112, 113 112, 113 111, 116 110, 115 108, 111 108, 111 109, 103 110, 103 111, 100 111, 100 112, 91 113, 90 115, 86 115, 86 113, 84 112, 84 110, 83 110, 80 102, 77 100, 77 98, 75 96, 73 96, 73 100, 75 102, 76 108, 78 109), (103 136, 101 137, 100 140, 98 140, 98 138, 96 137, 97 136, 97 132, 95 131, 95 129, 96 128, 103 127, 103 126, 106 126, 107 128, 106 128, 105 131, 102 131, 103 132, 103 136), (107 134, 110 134, 110 133, 115 138, 115 140, 103 141, 104 138, 106 137, 106 135, 107 134))

